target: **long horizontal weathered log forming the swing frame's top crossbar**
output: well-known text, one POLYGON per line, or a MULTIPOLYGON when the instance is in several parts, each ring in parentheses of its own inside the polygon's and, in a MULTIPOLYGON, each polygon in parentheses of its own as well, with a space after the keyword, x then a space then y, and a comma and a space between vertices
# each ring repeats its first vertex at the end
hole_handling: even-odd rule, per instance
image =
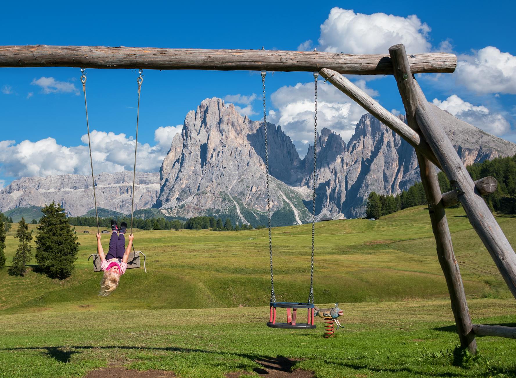
MULTIPOLYGON (((415 54, 414 73, 454 72, 457 57, 415 54)), ((159 49, 106 46, 0 46, 0 67, 142 68, 152 70, 319 71, 344 74, 392 74, 389 56, 318 51, 159 49)))

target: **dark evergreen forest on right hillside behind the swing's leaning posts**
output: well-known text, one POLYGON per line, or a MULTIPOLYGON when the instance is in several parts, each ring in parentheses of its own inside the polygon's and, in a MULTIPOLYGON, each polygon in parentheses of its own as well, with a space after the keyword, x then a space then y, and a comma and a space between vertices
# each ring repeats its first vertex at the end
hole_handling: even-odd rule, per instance
MULTIPOLYGON (((516 214, 516 154, 507 158, 495 158, 466 167, 473 181, 492 176, 498 182, 494 193, 484 197, 491 211, 516 214)), ((437 175, 441 193, 451 191, 451 185, 444 172, 437 175)), ((367 197, 366 216, 378 219, 401 209, 427 204, 425 190, 421 182, 416 182, 400 194, 379 195, 371 192, 367 197)), ((456 207, 459 207, 457 204, 456 207)))

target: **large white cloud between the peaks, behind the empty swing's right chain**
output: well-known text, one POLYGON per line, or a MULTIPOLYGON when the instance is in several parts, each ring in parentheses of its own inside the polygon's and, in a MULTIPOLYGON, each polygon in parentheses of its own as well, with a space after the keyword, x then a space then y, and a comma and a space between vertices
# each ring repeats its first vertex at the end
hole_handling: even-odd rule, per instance
MULTIPOLYGON (((326 127, 339 133, 345 141, 349 140, 357 122, 366 111, 333 85, 319 85, 317 89, 319 131, 326 127)), ((269 112, 267 120, 281 125, 298 150, 305 152, 305 145, 313 140, 314 84, 284 86, 272 93, 270 98, 277 111, 269 112)))

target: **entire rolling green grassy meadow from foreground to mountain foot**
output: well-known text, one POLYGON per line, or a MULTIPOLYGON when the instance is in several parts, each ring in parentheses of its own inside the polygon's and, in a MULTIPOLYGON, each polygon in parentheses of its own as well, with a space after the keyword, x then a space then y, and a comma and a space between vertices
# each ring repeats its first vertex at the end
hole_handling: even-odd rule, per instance
MULTIPOLYGON (((447 215, 473 321, 516 325, 516 303, 463 210, 447 215)), ((516 245, 516 218, 497 220, 516 245)), ((454 354, 458 337, 424 207, 316 225, 315 300, 340 302, 345 312, 330 340, 320 321, 315 330, 265 326, 267 230, 135 230, 148 273, 128 270, 114 294, 98 297, 101 273, 86 261, 96 230, 75 229, 72 277, 0 270, 0 376, 83 376, 109 364, 224 376, 260 373, 257 360, 280 356, 317 377, 516 376, 514 340, 481 337, 478 356, 454 354)), ((311 225, 273 229, 278 301, 307 300, 310 246, 311 225)))

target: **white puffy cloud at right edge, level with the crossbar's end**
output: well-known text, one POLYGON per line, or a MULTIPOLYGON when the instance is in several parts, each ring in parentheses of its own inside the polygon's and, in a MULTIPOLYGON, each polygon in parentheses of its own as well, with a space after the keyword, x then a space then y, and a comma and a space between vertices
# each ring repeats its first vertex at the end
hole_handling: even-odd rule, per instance
POLYGON ((516 95, 516 56, 487 46, 472 55, 460 55, 457 83, 477 93, 516 95))

